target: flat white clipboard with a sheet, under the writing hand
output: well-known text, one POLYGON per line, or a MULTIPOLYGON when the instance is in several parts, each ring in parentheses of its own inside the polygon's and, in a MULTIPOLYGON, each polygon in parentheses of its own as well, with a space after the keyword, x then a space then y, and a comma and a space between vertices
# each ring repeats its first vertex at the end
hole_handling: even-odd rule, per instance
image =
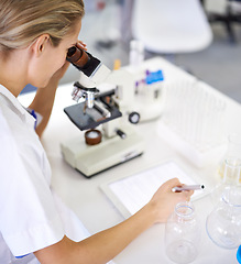
POLYGON ((205 185, 204 190, 195 190, 191 201, 208 194, 207 184, 204 180, 174 161, 110 180, 100 185, 100 189, 127 219, 146 205, 162 184, 175 177, 186 185, 205 185))

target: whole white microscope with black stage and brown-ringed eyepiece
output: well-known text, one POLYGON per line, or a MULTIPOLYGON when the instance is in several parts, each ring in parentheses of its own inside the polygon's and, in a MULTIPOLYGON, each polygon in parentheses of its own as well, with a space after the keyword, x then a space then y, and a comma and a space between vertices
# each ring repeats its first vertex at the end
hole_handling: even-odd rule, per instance
POLYGON ((144 140, 133 128, 140 114, 134 102, 134 79, 127 69, 110 70, 90 53, 73 46, 67 61, 80 73, 65 113, 85 132, 61 144, 64 160, 87 178, 142 155, 144 140))

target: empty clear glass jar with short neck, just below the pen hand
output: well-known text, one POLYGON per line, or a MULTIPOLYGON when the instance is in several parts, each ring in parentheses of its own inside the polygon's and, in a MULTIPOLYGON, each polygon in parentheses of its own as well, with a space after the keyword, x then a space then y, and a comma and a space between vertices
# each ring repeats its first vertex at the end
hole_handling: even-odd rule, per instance
POLYGON ((200 227, 191 202, 177 204, 165 224, 166 254, 175 263, 191 263, 198 255, 200 227))

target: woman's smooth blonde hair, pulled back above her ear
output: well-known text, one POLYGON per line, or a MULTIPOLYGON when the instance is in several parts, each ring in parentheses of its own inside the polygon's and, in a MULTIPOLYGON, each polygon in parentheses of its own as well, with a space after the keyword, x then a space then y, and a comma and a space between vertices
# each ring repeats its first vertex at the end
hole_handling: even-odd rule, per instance
POLYGON ((26 47, 45 33, 57 46, 84 14, 83 0, 0 0, 0 52, 26 47))

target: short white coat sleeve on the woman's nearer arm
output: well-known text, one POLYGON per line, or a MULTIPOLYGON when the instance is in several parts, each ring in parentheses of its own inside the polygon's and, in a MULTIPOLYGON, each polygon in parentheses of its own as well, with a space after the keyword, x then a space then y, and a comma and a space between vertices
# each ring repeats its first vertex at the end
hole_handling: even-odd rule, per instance
POLYGON ((20 153, 0 133, 0 232, 13 255, 21 256, 62 240, 63 222, 34 148, 20 153))

